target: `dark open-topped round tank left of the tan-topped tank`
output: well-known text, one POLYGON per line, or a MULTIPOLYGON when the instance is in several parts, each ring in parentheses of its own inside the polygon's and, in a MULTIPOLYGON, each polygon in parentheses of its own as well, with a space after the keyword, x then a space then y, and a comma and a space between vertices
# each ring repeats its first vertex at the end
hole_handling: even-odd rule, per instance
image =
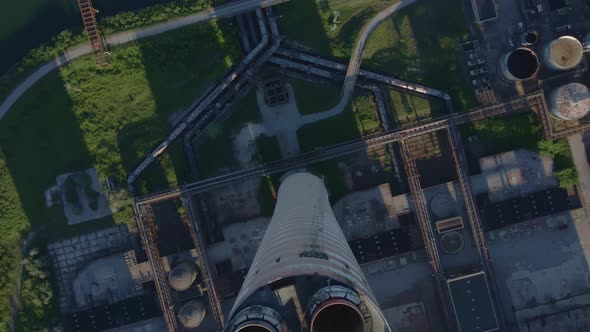
POLYGON ((539 58, 530 48, 520 47, 500 60, 500 73, 509 81, 522 81, 533 77, 539 70, 539 58))

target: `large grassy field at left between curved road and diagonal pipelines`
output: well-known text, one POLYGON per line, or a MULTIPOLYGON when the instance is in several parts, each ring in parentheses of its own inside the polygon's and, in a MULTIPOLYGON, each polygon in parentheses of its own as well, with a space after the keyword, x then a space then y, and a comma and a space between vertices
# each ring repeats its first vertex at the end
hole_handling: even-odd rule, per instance
MULTIPOLYGON (((170 131, 170 115, 236 63, 237 45, 234 31, 223 23, 184 28, 116 48, 104 70, 92 57, 76 60, 19 100, 0 121, 2 295, 12 292, 18 243, 31 227, 44 227, 43 236, 50 239, 71 229, 132 221, 127 207, 113 217, 66 227, 61 207, 45 208, 43 192, 57 175, 92 166, 124 186, 127 173, 170 131)), ((182 181, 177 155, 166 157, 148 183, 152 176, 156 182, 167 178, 168 185, 182 181)), ((5 322, 8 297, 1 298, 5 322)))

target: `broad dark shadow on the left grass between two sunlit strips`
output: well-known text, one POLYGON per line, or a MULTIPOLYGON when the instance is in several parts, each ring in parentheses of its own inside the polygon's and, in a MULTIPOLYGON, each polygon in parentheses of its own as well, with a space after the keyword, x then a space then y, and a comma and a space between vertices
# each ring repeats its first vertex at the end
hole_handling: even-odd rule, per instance
MULTIPOLYGON (((93 167, 80 121, 57 72, 39 82, 0 122, 0 149, 31 226, 43 236, 66 227, 63 207, 45 207, 44 191, 63 173, 93 167)), ((112 220, 105 218, 104 223, 112 220)), ((24 222, 24 221, 23 221, 24 222)))

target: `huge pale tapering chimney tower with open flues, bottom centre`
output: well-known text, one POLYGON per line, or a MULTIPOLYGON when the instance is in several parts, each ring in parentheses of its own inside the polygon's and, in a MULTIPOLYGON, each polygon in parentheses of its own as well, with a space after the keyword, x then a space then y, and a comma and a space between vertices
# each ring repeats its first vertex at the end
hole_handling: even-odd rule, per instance
POLYGON ((391 331, 315 175, 283 179, 226 331, 391 331))

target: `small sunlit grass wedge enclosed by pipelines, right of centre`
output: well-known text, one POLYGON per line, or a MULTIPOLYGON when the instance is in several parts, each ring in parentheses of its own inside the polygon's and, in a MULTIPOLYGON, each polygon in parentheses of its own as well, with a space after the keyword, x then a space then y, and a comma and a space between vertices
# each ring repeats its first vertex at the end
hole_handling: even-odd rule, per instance
POLYGON ((432 119, 446 112, 444 102, 439 99, 427 99, 397 90, 389 90, 388 99, 397 124, 432 119))

